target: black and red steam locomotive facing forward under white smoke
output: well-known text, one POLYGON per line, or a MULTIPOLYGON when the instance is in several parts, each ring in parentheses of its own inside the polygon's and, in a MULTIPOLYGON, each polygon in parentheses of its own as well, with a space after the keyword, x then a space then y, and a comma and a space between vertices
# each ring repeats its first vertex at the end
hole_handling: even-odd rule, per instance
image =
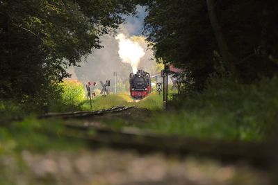
POLYGON ((142 99, 151 92, 151 78, 149 73, 138 70, 136 74, 129 74, 129 90, 134 99, 142 99))

